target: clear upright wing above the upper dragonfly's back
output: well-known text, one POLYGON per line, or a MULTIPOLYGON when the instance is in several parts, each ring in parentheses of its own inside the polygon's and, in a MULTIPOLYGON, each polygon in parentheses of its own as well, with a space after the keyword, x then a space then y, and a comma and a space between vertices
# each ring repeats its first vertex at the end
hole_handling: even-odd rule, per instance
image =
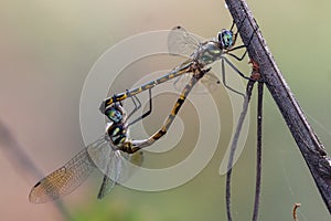
POLYGON ((173 55, 190 56, 203 41, 192 33, 189 33, 182 27, 174 27, 168 36, 168 51, 173 55))

